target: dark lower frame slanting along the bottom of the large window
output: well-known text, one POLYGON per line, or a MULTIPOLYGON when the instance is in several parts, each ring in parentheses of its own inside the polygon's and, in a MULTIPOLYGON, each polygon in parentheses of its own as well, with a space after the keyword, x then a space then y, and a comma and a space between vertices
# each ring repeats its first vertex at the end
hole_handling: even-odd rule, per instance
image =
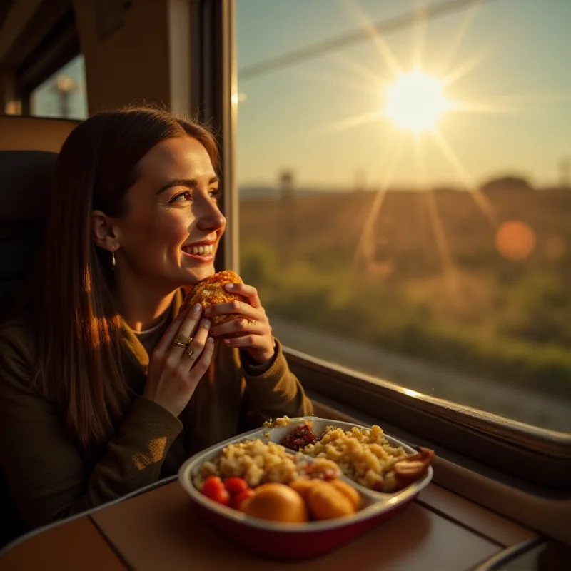
POLYGON ((571 437, 428 395, 411 396, 405 387, 297 350, 284 353, 318 400, 370 415, 383 428, 404 431, 411 443, 521 490, 571 497, 571 437))

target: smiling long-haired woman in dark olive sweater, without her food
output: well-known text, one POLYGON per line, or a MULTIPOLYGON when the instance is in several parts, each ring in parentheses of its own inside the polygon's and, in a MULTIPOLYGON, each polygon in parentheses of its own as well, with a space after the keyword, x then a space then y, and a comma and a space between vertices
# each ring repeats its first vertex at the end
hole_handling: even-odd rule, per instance
POLYGON ((214 273, 217 166, 205 128, 148 108, 89 118, 61 148, 41 277, 0 328, 0 467, 29 527, 311 413, 254 288, 177 316, 182 288, 214 273), (210 328, 223 313, 242 319, 210 328))

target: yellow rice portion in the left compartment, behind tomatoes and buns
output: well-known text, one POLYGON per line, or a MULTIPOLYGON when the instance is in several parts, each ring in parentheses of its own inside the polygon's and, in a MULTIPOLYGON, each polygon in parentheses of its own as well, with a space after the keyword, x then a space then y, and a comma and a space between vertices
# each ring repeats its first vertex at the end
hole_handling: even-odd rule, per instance
MULTIPOLYGON (((203 463, 193 474, 193 485, 200 490, 208 476, 242 477, 251 487, 267 482, 287 484, 303 477, 306 465, 300 455, 288 452, 282 445, 259 439, 246 440, 225 446, 216 458, 203 463)), ((311 470, 312 475, 325 470, 338 473, 337 465, 326 458, 313 461, 311 470)))

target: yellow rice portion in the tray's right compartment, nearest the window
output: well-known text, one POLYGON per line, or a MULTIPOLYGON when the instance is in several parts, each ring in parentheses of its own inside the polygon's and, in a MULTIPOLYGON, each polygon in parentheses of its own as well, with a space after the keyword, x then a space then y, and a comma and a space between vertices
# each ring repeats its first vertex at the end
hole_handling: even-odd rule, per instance
POLYGON ((350 480, 370 489, 393 487, 394 474, 389 471, 407 456, 402 446, 390 445, 377 425, 370 430, 353 427, 347 431, 328 426, 320 441, 305 446, 301 452, 333 460, 350 480))

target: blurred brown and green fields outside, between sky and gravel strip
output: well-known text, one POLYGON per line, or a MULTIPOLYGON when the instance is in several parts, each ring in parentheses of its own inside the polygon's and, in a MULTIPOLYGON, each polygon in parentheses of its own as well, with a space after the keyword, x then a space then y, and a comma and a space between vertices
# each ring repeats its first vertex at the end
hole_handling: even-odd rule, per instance
POLYGON ((271 318, 571 404, 571 188, 287 182, 241 188, 241 273, 271 318))

